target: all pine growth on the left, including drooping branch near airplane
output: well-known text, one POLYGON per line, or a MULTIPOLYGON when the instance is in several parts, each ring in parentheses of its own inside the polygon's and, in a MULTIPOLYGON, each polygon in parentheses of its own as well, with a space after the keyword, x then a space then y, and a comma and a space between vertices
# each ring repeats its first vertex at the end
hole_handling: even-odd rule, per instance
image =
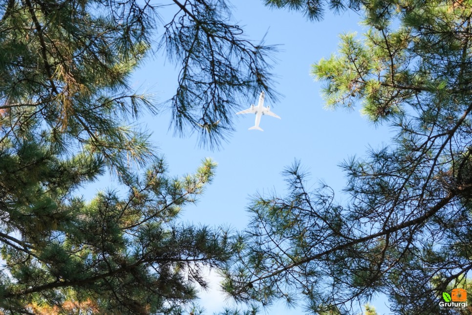
POLYGON ((147 0, 2 2, 0 313, 181 314, 207 285, 202 269, 231 256, 228 231, 176 221, 215 163, 168 175, 132 126, 158 108, 128 80, 160 26, 158 47, 181 67, 174 125, 214 145, 238 98, 271 94, 272 48, 245 39, 222 0, 173 3, 159 24, 147 0), (105 172, 122 192, 77 196, 105 172))

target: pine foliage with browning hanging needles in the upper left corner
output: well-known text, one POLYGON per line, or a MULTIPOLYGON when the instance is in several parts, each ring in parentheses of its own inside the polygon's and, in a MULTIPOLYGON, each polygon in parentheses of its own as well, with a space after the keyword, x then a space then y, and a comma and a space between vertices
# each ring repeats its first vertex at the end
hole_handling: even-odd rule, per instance
POLYGON ((0 88, 2 135, 46 141, 61 154, 100 153, 123 174, 130 158, 144 165, 151 156, 147 136, 122 125, 143 109, 155 112, 127 84, 149 48, 150 12, 117 23, 126 10, 90 14, 96 5, 8 1, 0 26, 0 73, 9 78, 0 88))

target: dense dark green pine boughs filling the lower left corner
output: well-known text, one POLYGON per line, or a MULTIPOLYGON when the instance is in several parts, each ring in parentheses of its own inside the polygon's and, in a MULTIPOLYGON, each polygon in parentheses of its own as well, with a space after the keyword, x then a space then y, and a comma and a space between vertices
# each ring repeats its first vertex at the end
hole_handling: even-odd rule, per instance
POLYGON ((1 159, 8 169, 0 174, 15 180, 1 180, 10 275, 2 273, 0 309, 49 313, 84 302, 100 312, 167 312, 196 297, 194 284, 206 286, 199 262, 218 266, 231 255, 227 231, 174 222, 212 180, 211 160, 179 179, 158 159, 126 179, 125 198, 109 191, 86 202, 71 192, 103 172, 103 161, 84 158, 72 168, 77 157, 26 146, 1 159))

